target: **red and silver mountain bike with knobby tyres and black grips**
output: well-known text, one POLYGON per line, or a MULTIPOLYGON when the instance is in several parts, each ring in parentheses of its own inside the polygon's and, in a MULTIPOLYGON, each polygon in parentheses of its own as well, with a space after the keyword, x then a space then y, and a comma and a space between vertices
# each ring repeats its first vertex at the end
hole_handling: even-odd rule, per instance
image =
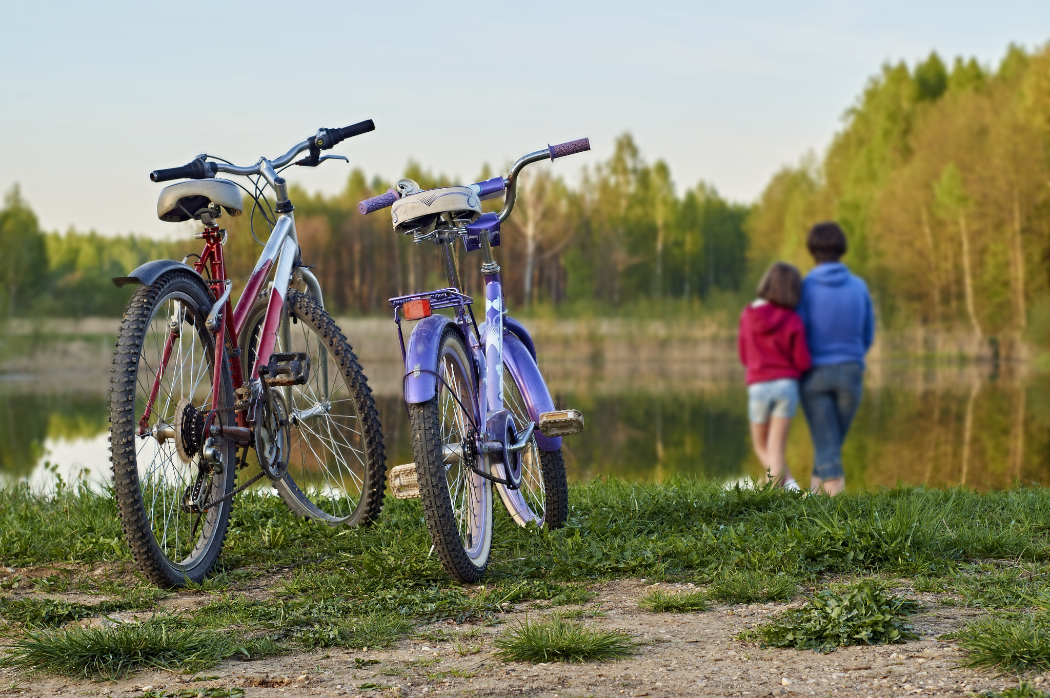
POLYGON ((205 154, 150 174, 190 179, 161 191, 162 220, 204 225, 200 255, 150 261, 113 279, 140 284, 113 353, 113 487, 135 563, 158 585, 204 578, 223 548, 233 495, 262 478, 296 514, 331 526, 379 515, 385 460, 375 402, 324 312, 317 278, 302 266, 294 206, 278 173, 346 160, 320 153, 374 128, 370 120, 320 129, 280 157, 247 167, 205 154), (249 177, 254 191, 215 178, 218 172, 249 177), (240 215, 242 190, 272 230, 234 306, 217 219, 224 211, 240 215), (258 472, 235 486, 249 465, 258 472))

